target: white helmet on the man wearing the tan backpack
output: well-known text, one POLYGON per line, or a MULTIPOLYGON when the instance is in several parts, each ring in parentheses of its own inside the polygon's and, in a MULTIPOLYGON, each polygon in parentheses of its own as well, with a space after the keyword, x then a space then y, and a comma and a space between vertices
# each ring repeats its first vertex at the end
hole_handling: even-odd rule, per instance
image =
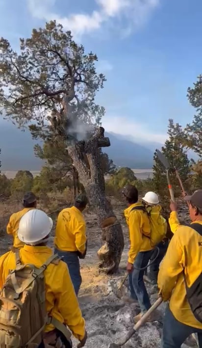
POLYGON ((50 234, 52 225, 52 219, 46 213, 31 209, 20 219, 18 238, 26 244, 39 244, 50 234))

